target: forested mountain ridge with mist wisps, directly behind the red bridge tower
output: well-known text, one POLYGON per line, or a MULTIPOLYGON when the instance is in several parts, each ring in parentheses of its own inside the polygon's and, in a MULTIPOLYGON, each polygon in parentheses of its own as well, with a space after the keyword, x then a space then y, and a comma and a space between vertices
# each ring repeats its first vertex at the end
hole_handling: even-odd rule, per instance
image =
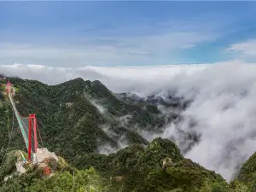
MULTIPOLYGON (((119 145, 148 144, 137 131, 155 131, 165 123, 138 105, 120 101, 99 81, 73 79, 53 86, 34 80, 10 81, 17 89, 14 99, 20 114, 36 113, 44 145, 67 160, 102 146, 113 151, 119 145)), ((3 104, 3 111, 6 108, 3 104)))

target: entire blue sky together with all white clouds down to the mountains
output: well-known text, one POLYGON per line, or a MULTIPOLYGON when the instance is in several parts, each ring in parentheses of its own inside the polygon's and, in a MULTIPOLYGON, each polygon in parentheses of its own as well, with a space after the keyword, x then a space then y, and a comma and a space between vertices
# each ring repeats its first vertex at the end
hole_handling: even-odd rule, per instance
MULTIPOLYGON (((186 157, 229 179, 256 151, 256 2, 1 2, 0 73, 195 98, 186 157), (189 65, 198 64, 198 65, 189 65)), ((173 113, 166 109, 165 113, 173 113)), ((163 135, 188 142, 174 125, 163 135)), ((145 135, 149 137, 149 135, 145 135)), ((185 145, 185 146, 183 146, 185 145)))

